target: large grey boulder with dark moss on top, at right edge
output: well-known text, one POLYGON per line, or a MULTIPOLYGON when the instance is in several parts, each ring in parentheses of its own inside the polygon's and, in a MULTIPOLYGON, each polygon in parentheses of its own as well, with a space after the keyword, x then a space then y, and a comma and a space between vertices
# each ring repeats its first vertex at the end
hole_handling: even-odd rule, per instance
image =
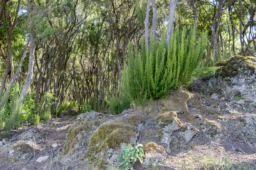
POLYGON ((215 72, 215 79, 226 98, 240 94, 256 102, 256 57, 233 56, 215 66, 221 66, 215 72))

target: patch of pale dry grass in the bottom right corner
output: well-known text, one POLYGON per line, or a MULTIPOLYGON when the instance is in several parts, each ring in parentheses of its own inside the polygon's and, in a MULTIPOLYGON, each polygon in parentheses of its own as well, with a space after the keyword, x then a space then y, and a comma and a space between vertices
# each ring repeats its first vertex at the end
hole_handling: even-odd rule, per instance
POLYGON ((255 170, 256 154, 227 151, 218 144, 191 146, 187 153, 171 155, 166 161, 177 170, 255 170))

